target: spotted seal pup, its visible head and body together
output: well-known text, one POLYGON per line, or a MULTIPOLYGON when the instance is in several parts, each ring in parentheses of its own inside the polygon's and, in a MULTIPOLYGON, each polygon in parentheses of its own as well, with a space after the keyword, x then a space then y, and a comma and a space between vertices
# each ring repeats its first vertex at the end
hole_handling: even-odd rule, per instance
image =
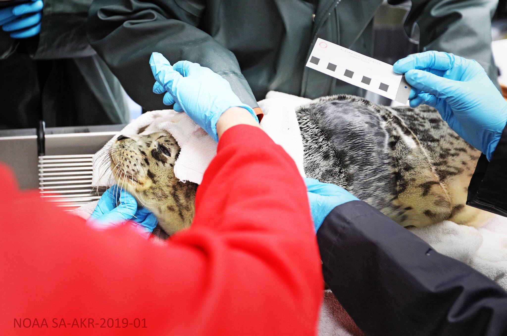
MULTIPOLYGON (((487 216, 464 204, 480 153, 435 109, 338 95, 313 100, 296 114, 308 177, 343 186, 405 227, 445 219, 477 226, 487 216)), ((110 150, 113 172, 158 217, 155 233, 167 237, 188 228, 197 185, 174 176, 180 150, 174 138, 157 132, 119 139, 110 150)))

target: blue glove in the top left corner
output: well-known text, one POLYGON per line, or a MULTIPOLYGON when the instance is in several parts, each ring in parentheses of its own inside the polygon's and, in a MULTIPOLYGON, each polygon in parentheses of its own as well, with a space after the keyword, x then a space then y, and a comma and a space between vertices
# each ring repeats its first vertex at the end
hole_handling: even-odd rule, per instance
POLYGON ((13 39, 26 39, 41 32, 42 0, 0 10, 0 26, 2 30, 10 32, 13 39))

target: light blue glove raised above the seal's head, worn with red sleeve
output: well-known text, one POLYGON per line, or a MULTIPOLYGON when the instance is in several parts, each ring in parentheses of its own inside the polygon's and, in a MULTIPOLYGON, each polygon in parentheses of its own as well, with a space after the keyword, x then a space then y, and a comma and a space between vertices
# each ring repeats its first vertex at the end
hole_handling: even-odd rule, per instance
POLYGON ((150 66, 157 80, 153 92, 167 91, 164 104, 174 104, 174 110, 185 111, 215 141, 218 141, 216 122, 230 107, 243 107, 259 121, 253 109, 232 92, 229 82, 210 68, 189 61, 171 66, 160 53, 152 53, 150 66))

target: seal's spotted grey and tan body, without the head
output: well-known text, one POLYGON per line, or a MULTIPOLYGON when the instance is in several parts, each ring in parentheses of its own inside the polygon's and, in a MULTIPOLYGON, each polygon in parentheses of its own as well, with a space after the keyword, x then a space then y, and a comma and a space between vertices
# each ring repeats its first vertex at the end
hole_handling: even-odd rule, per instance
POLYGON ((343 186, 402 226, 478 226, 488 216, 465 206, 480 152, 436 109, 337 95, 300 107, 297 117, 307 176, 343 186))

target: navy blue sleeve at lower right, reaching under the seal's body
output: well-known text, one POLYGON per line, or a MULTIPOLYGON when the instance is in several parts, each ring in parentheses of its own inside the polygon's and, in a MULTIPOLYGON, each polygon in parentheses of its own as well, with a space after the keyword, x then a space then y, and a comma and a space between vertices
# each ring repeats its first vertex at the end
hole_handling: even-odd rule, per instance
POLYGON ((507 292, 362 201, 317 232, 324 280, 367 335, 507 335, 507 292))

